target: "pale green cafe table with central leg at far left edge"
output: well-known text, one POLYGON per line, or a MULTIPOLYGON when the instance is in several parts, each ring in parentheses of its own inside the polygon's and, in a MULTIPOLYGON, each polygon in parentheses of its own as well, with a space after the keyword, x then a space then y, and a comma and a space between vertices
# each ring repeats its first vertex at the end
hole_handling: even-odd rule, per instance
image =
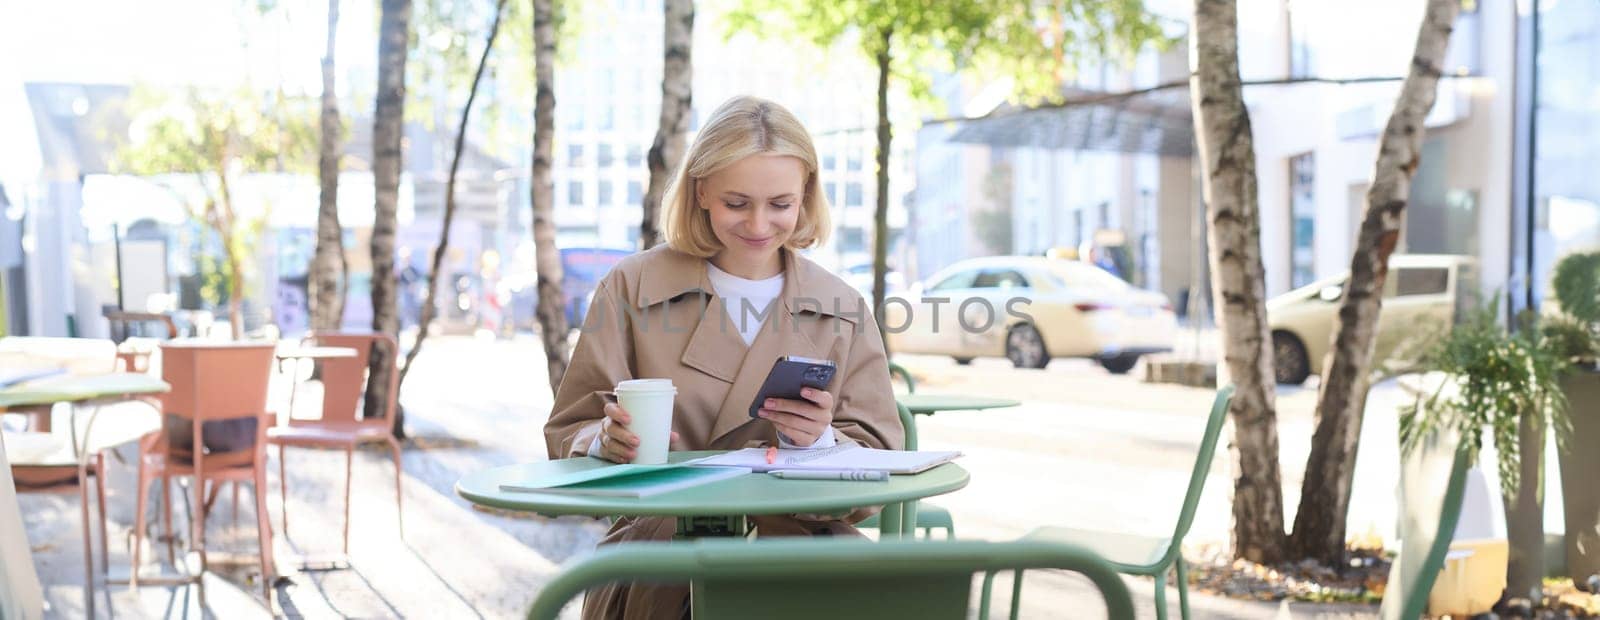
MULTIPOLYGON (((70 403, 72 407, 72 451, 78 457, 78 495, 83 502, 83 607, 85 614, 94 615, 94 561, 88 527, 88 463, 90 435, 94 430, 94 419, 104 409, 102 404, 144 399, 171 390, 166 382, 144 372, 112 372, 90 376, 54 376, 35 379, 0 388, 0 412, 16 407, 37 407, 56 403, 70 403), (78 441, 77 407, 91 406, 90 419, 83 427, 83 441, 78 441)), ((160 409, 157 406, 157 409, 160 409)), ((101 473, 106 475, 104 471, 101 473)), ((99 507, 104 515, 106 507, 99 507)))

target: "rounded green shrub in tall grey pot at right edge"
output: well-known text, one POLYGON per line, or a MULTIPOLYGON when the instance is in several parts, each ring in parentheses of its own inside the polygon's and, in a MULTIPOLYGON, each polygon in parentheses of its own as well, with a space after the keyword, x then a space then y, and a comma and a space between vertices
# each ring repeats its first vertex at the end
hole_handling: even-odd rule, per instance
POLYGON ((1555 265, 1560 312, 1546 321, 1554 348, 1570 361, 1562 391, 1570 406, 1570 441, 1562 446, 1562 500, 1566 516, 1566 575, 1590 588, 1600 574, 1600 252, 1574 252, 1555 265))

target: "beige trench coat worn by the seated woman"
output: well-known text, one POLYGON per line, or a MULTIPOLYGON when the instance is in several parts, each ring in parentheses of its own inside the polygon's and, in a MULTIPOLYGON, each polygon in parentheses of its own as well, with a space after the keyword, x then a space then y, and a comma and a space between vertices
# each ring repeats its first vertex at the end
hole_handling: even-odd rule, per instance
MULTIPOLYGON (((595 289, 578 350, 544 425, 550 459, 584 455, 600 433, 605 393, 626 379, 672 379, 672 430, 680 449, 776 446, 778 431, 749 407, 773 361, 832 360, 834 435, 840 443, 901 449, 888 360, 869 304, 838 276, 782 251, 784 288, 746 347, 738 316, 723 310, 706 259, 658 246, 624 259, 595 289)), ((738 312, 736 312, 738 313, 738 312)), ((749 316, 747 320, 758 320, 749 316)), ((859 521, 870 511, 850 515, 859 521)), ((840 521, 758 516, 765 535, 854 534, 840 521)), ((674 521, 621 519, 602 543, 667 540, 674 521)), ((616 585, 592 591, 584 617, 680 617, 686 588, 616 585), (626 607, 626 614, 624 614, 626 607)))

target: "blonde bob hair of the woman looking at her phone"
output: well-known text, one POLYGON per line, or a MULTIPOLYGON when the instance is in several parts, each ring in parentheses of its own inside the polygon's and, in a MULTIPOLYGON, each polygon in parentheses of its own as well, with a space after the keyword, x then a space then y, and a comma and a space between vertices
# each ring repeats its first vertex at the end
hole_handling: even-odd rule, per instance
POLYGON ((827 216, 827 197, 816 179, 811 134, 782 105, 738 96, 710 113, 667 187, 666 200, 661 201, 661 232, 667 246, 699 257, 722 251, 722 241, 710 229, 710 213, 696 205, 694 185, 746 157, 763 153, 794 157, 806 171, 800 219, 784 246, 805 249, 827 243, 834 225, 827 216))

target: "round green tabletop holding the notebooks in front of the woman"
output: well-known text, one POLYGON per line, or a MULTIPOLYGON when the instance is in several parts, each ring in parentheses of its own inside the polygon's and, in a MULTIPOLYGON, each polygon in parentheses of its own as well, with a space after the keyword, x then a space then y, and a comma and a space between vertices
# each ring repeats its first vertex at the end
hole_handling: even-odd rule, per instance
MULTIPOLYGON (((670 462, 709 457, 720 451, 672 452, 670 462)), ((582 471, 608 463, 578 457, 538 463, 506 465, 470 473, 456 483, 456 494, 467 502, 530 511, 547 516, 672 516, 678 519, 680 537, 744 535, 747 515, 843 515, 859 507, 883 505, 883 523, 899 523, 899 505, 922 497, 942 495, 966 486, 968 475, 960 465, 944 463, 933 470, 890 476, 888 483, 845 483, 811 479, 778 479, 765 473, 730 478, 651 497, 592 497, 501 491, 502 483, 520 483, 541 476, 582 471)), ((898 535, 899 531, 886 532, 898 535)))

